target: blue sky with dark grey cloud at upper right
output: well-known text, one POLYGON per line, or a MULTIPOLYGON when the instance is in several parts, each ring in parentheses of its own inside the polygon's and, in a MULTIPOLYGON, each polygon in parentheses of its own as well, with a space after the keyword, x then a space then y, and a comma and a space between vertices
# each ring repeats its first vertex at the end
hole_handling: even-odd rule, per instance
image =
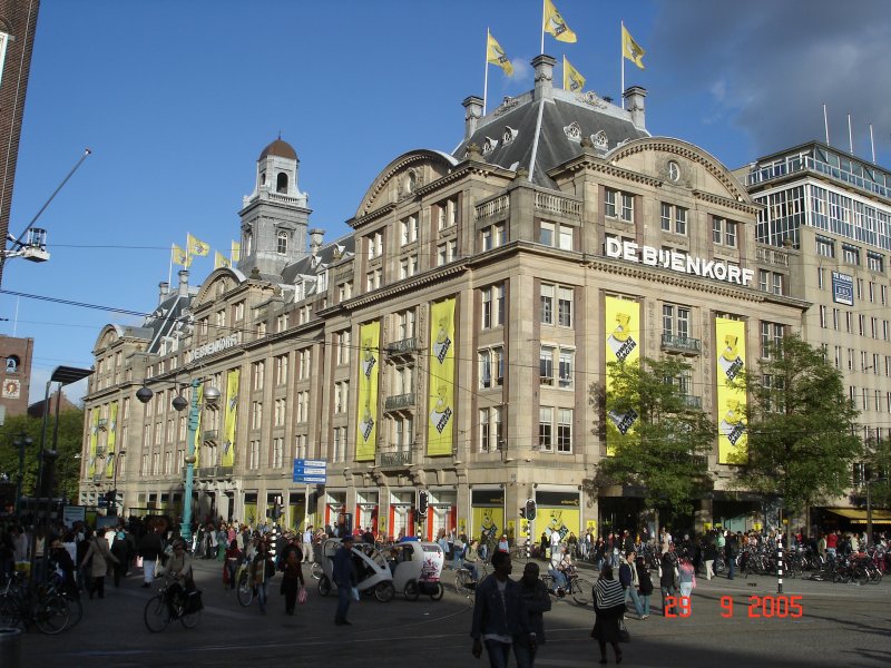
MULTIPOLYGON (((648 90, 647 129, 731 168, 810 139, 891 167, 891 21, 881 0, 840 3, 555 0, 578 35, 546 37, 619 98, 620 21, 646 50, 626 86, 648 90)), ((486 29, 515 77, 489 70, 489 100, 532 87, 540 0, 42 0, 10 230, 19 234, 77 161, 38 225, 51 259, 7 264, 3 288, 149 312, 172 243, 225 250, 260 151, 281 132, 301 159, 311 226, 347 232, 371 181, 414 148, 451 151, 482 95, 486 29)), ((561 70, 556 71, 555 82, 561 70)), ((196 258, 192 282, 213 269, 196 258)), ((0 295, 0 333, 35 338, 31 396, 60 364, 88 367, 101 327, 138 318, 0 295)), ((82 389, 74 386, 71 399, 82 389)))

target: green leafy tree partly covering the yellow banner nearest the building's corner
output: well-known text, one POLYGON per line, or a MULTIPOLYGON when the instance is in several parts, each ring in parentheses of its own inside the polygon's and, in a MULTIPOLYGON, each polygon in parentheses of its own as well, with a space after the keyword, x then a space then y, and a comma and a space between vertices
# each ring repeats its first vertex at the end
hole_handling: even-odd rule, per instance
POLYGON ((643 489, 649 508, 691 514, 712 489, 707 455, 714 420, 688 395, 691 365, 679 357, 642 357, 607 364, 609 390, 591 387, 601 411, 609 455, 598 464, 601 484, 643 489))

